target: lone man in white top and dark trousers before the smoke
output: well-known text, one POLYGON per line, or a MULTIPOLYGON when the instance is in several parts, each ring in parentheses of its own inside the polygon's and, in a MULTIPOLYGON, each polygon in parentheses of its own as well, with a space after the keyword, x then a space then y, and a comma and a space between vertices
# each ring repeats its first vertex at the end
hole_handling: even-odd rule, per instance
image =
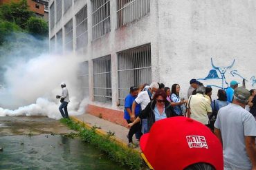
POLYGON ((62 103, 62 104, 60 104, 60 107, 59 107, 60 114, 62 114, 63 118, 69 118, 68 117, 68 102, 70 100, 69 100, 68 89, 66 88, 65 83, 61 83, 60 86, 62 87, 62 95, 56 96, 56 98, 60 98, 60 102, 62 103), (64 109, 64 111, 63 111, 63 109, 64 109))

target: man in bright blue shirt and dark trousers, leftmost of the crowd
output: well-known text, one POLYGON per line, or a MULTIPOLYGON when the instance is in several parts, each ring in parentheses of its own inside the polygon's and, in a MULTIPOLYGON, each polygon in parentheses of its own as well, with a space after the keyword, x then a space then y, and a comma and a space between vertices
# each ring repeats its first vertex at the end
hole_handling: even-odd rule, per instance
MULTIPOLYGON (((132 115, 131 112, 131 106, 132 103, 134 103, 135 98, 138 96, 138 87, 134 86, 130 88, 130 93, 126 96, 125 98, 125 115, 124 118, 125 120, 127 120, 127 123, 132 123, 134 121, 134 119, 132 119, 131 117, 134 117, 132 115)), ((140 105, 136 105, 135 107, 135 118, 138 116, 138 114, 140 113, 140 105)), ((132 142, 132 136, 134 136, 134 134, 138 134, 139 133, 139 138, 141 136, 141 125, 140 123, 137 123, 136 125, 134 125, 133 127, 131 127, 131 129, 129 129, 129 133, 128 133, 128 140, 129 140, 129 147, 136 147, 134 145, 134 143, 132 142)))

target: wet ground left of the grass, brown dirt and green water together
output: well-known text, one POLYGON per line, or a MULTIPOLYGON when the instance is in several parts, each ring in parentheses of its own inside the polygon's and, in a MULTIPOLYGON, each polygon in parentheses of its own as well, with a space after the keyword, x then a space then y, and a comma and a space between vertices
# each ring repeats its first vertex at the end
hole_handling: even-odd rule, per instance
POLYGON ((0 169, 125 169, 80 138, 62 135, 70 132, 47 117, 0 117, 0 169))

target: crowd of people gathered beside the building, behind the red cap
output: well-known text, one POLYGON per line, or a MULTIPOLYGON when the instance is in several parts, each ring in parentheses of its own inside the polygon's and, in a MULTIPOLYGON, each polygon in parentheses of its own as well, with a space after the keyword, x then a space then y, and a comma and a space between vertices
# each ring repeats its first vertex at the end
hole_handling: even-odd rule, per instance
POLYGON ((163 83, 131 87, 125 98, 124 116, 129 127, 128 146, 137 147, 134 134, 140 140, 159 120, 183 116, 205 125, 219 138, 224 169, 255 170, 256 90, 238 85, 231 81, 226 90, 219 89, 216 100, 212 100, 212 88, 196 79, 190 80, 188 100, 179 96, 179 84, 171 88, 163 83))

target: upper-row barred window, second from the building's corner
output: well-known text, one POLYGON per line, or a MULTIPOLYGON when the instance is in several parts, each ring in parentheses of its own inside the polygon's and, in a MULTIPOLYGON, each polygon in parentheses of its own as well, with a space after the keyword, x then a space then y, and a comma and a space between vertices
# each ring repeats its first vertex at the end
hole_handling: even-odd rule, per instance
POLYGON ((93 40, 110 32, 110 1, 91 0, 93 17, 93 40))

